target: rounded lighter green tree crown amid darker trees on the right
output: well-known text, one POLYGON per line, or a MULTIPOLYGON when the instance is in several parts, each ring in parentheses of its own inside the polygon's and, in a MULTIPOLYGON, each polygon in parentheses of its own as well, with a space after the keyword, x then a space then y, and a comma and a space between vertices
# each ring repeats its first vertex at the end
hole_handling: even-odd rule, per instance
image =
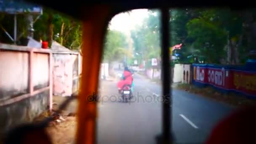
POLYGON ((219 63, 225 54, 223 48, 227 43, 227 34, 223 29, 216 27, 211 21, 197 18, 187 23, 187 32, 188 38, 193 41, 190 48, 195 48, 198 54, 207 56, 209 63, 219 63))

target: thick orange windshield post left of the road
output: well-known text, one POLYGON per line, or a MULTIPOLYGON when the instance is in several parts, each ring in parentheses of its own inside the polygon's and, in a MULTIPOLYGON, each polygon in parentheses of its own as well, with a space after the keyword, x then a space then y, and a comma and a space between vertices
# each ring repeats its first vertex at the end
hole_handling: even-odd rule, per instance
POLYGON ((110 8, 96 6, 87 11, 83 20, 83 62, 80 91, 78 93, 77 144, 96 143, 98 77, 101 63, 104 35, 111 18, 110 8))

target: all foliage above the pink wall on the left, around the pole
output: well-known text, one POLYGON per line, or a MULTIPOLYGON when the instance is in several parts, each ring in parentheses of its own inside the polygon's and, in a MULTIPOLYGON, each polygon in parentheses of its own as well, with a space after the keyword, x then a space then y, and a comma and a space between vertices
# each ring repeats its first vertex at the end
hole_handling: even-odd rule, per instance
MULTIPOLYGON (((35 20, 37 16, 33 17, 35 20)), ((13 15, 1 14, 0 24, 13 36, 13 15)), ((27 15, 17 15, 17 38, 27 36, 27 25, 27 15)), ((51 46, 52 40, 56 40, 69 49, 78 50, 80 48, 82 26, 81 22, 76 19, 43 8, 43 15, 33 25, 35 40, 48 40, 49 46, 51 46), (55 35, 59 35, 59 37, 55 37, 55 35)), ((1 31, 0 41, 2 43, 13 43, 3 31, 1 31)))

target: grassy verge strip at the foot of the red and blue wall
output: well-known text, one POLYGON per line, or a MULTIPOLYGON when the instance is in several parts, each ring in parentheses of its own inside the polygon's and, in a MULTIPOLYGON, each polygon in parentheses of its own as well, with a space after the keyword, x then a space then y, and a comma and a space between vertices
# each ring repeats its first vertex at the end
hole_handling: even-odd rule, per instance
POLYGON ((205 88, 198 88, 194 85, 189 84, 178 84, 176 86, 177 89, 181 89, 184 91, 188 91, 189 93, 195 93, 200 96, 204 96, 210 99, 214 99, 216 101, 224 102, 229 104, 233 107, 248 107, 248 106, 255 106, 256 99, 250 99, 244 95, 237 94, 234 92, 230 93, 221 93, 214 88, 205 87, 205 88))

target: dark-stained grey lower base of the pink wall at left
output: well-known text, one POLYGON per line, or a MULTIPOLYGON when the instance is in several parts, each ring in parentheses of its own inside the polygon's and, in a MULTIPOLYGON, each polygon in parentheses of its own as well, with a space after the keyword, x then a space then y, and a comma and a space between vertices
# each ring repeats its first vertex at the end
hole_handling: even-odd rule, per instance
POLYGON ((26 122, 31 122, 48 107, 49 90, 35 94, 31 98, 23 99, 0 107, 0 133, 26 122))

